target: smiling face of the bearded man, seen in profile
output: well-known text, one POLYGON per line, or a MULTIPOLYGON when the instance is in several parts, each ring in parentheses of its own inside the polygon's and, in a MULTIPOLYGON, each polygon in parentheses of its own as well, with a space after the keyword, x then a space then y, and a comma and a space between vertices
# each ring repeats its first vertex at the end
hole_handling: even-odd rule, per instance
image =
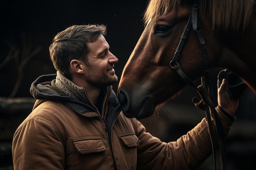
POLYGON ((110 53, 109 48, 103 35, 100 35, 96 41, 88 43, 88 62, 85 63, 85 79, 88 85, 102 88, 117 82, 118 78, 113 67, 118 59, 110 53))

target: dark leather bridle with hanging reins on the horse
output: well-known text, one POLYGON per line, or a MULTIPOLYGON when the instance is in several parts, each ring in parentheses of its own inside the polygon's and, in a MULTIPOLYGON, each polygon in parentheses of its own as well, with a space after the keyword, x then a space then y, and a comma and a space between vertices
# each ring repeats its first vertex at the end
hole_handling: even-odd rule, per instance
MULTIPOLYGON (((189 16, 189 20, 184 27, 183 33, 180 38, 180 42, 175 50, 173 59, 170 62, 171 68, 173 68, 182 79, 186 81, 187 84, 190 86, 194 87, 200 97, 201 101, 196 102, 195 100, 195 105, 198 106, 199 108, 202 108, 202 110, 205 111, 206 117, 207 117, 207 122, 208 122, 208 128, 209 128, 209 133, 210 133, 210 138, 211 138, 211 145, 213 149, 213 161, 214 161, 214 170, 216 170, 216 138, 214 137, 213 133, 213 124, 212 120, 215 122, 215 128, 216 128, 216 133, 217 133, 217 141, 218 141, 218 146, 220 150, 220 161, 221 161, 221 168, 222 170, 225 170, 225 135, 223 132, 223 127, 222 123, 220 121, 220 118, 218 117, 218 114, 215 110, 215 107, 213 105, 214 98, 213 98, 213 92, 212 92, 212 87, 211 87, 211 81, 209 78, 209 72, 210 72, 210 66, 209 66, 209 57, 207 55, 207 49, 205 46, 204 38, 202 35, 202 29, 200 26, 200 20, 199 20, 199 15, 198 15, 198 4, 199 0, 195 0, 195 4, 191 8, 191 13, 189 16), (186 43, 186 39, 188 38, 189 32, 191 30, 191 27, 193 28, 195 34, 198 37, 198 42, 200 45, 200 48, 202 50, 202 57, 203 57, 203 62, 204 62, 204 71, 206 74, 201 77, 201 85, 196 86, 196 84, 182 71, 180 64, 178 63, 178 60, 180 58, 180 54, 182 52, 182 49, 184 47, 184 44, 186 43), (206 90, 207 88, 207 90, 206 90), (203 105, 203 107, 202 107, 203 105)), ((195 98, 194 98, 195 99, 195 98)))

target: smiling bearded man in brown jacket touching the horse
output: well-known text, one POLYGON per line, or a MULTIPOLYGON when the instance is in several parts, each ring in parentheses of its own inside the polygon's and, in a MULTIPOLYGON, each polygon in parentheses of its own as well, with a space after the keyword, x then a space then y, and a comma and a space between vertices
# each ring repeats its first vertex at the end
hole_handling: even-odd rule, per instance
MULTIPOLYGON (((205 118, 167 144, 124 116, 111 86, 118 59, 105 35, 103 25, 74 25, 55 36, 49 51, 57 74, 31 85, 37 100, 13 137, 14 170, 184 170, 211 155, 205 118)), ((238 106, 226 84, 216 107, 225 135, 238 106)))

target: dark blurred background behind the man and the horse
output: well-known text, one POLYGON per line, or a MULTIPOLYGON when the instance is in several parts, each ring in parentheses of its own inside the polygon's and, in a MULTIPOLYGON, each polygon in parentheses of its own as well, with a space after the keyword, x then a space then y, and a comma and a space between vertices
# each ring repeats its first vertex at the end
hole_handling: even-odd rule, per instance
MULTIPOLYGON (((115 71, 120 78, 144 29, 142 14, 146 4, 147 0, 1 1, 0 98, 9 99, 10 95, 11 98, 30 98, 30 85, 38 76, 56 73, 49 58, 49 45, 56 33, 73 24, 107 26, 106 40, 111 52, 119 59, 115 71), (4 63, 8 55, 11 57, 4 63), (21 77, 18 79, 20 85, 15 87, 17 77, 21 77), (15 88, 17 91, 13 91, 15 88)), ((217 74, 213 71, 211 75, 213 87, 217 74)), ((115 92, 117 86, 118 83, 113 86, 115 92)), ((157 120, 144 123, 147 130, 162 141, 173 141, 186 134, 204 117, 204 112, 191 102, 195 95, 194 89, 186 87, 182 95, 160 109, 157 120)), ((0 170, 12 169, 11 139, 30 110, 31 107, 26 111, 9 113, 0 109, 0 145, 5 151, 0 150, 0 170)), ((240 98, 236 117, 227 139, 227 167, 229 170, 255 170, 256 97, 249 89, 240 98)), ((199 169, 212 170, 213 158, 207 159, 199 169)))

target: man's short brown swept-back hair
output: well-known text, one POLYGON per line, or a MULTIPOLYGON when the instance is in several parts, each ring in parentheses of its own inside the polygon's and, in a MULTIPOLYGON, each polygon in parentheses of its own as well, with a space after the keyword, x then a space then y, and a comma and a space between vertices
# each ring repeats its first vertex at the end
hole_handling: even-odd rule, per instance
POLYGON ((87 43, 96 41, 99 35, 106 36, 106 26, 103 24, 73 25, 59 32, 49 47, 54 68, 70 78, 71 60, 87 62, 87 43))

